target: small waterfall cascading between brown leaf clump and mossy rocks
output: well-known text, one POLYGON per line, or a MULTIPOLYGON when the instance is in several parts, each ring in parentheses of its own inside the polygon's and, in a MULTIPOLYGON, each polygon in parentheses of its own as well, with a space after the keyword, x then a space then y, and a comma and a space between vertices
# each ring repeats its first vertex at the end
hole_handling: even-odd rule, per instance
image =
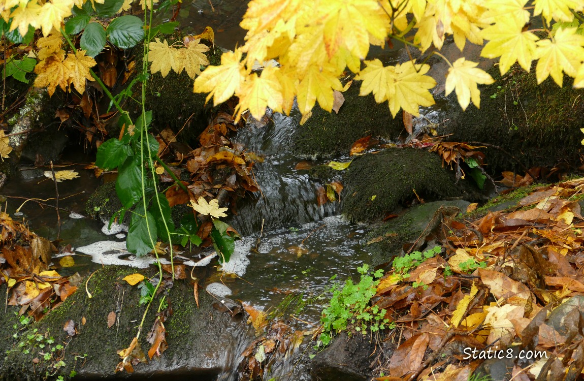
POLYGON ((274 113, 267 126, 248 126, 234 138, 249 152, 264 157, 253 169, 261 192, 240 200, 238 215, 232 220, 241 235, 260 231, 262 224, 263 230, 272 230, 318 221, 337 212, 333 203, 319 206, 318 184, 308 179, 306 171, 294 169, 302 160, 291 153, 288 144, 296 126, 296 117, 274 113))

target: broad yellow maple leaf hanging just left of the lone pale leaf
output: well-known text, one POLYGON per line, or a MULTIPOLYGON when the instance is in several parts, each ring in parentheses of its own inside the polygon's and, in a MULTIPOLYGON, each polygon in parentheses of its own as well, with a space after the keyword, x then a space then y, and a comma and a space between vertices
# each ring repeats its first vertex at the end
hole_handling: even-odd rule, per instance
POLYGON ((388 101, 393 117, 402 108, 412 115, 419 116, 419 106, 432 106, 434 98, 428 91, 436 86, 436 81, 429 75, 426 64, 414 65, 412 61, 395 65, 395 71, 390 72, 388 86, 388 101))

